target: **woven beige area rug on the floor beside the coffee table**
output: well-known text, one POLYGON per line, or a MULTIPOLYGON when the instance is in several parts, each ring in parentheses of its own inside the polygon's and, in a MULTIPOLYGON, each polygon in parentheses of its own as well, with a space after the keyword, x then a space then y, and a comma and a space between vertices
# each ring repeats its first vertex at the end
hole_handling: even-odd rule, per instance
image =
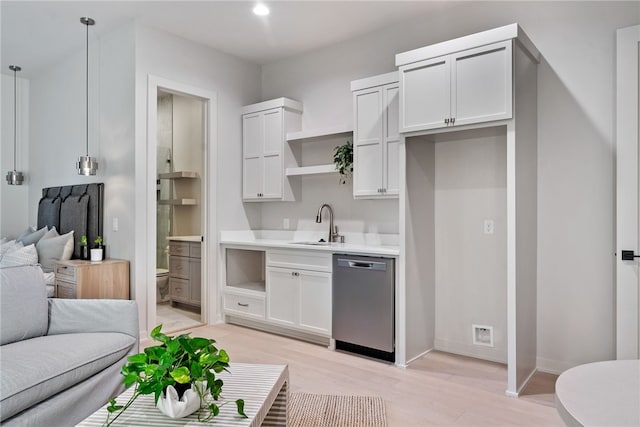
POLYGON ((386 427, 384 401, 375 396, 291 393, 291 427, 386 427))

